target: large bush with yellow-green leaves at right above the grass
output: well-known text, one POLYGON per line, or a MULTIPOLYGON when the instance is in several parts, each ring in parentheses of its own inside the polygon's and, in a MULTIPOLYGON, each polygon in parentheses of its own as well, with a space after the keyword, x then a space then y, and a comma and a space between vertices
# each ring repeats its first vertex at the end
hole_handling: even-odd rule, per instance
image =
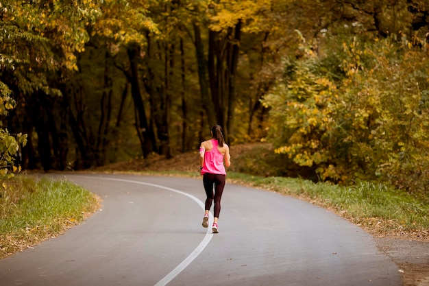
POLYGON ((321 180, 426 190, 428 69, 424 50, 391 38, 351 38, 324 56, 306 49, 304 60, 284 62, 284 78, 264 100, 275 152, 314 167, 321 180))

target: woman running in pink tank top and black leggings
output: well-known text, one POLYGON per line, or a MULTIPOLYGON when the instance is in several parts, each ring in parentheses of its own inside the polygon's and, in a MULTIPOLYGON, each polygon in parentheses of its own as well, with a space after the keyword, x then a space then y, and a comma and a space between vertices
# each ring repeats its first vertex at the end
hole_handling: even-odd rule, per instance
POLYGON ((225 143, 221 126, 215 125, 212 127, 212 138, 202 142, 199 146, 199 169, 201 170, 201 176, 203 176, 204 190, 207 195, 203 226, 208 228, 208 213, 213 200, 215 200, 213 233, 219 233, 217 221, 221 212, 223 187, 225 187, 225 166, 230 167, 230 165, 230 148, 225 143), (225 165, 223 165, 224 163, 225 165), (213 193, 213 187, 215 188, 215 193, 213 193))

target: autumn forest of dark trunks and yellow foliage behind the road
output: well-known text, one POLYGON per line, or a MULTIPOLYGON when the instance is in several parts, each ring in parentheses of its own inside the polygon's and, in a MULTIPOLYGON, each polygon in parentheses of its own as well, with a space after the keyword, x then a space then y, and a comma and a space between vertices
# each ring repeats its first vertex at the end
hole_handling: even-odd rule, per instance
POLYGON ((426 0, 0 0, 0 175, 269 142, 429 189, 426 0))

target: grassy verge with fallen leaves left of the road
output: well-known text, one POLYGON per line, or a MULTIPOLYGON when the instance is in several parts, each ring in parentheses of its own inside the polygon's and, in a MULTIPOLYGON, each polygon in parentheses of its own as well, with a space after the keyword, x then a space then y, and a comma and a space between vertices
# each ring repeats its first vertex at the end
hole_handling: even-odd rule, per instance
POLYGON ((95 195, 66 180, 16 176, 0 186, 0 258, 56 237, 98 208, 95 195))

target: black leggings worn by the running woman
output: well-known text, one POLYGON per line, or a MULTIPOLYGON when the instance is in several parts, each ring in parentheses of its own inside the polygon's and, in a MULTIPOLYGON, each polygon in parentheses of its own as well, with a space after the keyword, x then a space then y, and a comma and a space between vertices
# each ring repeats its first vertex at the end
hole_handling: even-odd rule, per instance
POLYGON ((221 198, 223 187, 225 187, 225 175, 206 173, 203 176, 204 190, 206 190, 206 210, 210 210, 213 199, 215 199, 215 217, 221 213, 221 198), (215 185, 215 195, 213 195, 213 184, 215 185))

